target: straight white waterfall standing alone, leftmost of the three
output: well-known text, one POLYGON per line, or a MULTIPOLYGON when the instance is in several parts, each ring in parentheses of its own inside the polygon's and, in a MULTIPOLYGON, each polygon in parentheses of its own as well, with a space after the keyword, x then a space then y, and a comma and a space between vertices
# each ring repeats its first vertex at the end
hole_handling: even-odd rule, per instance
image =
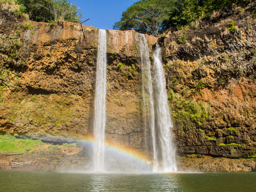
POLYGON ((95 91, 93 170, 104 171, 104 139, 106 124, 106 31, 99 30, 95 91))

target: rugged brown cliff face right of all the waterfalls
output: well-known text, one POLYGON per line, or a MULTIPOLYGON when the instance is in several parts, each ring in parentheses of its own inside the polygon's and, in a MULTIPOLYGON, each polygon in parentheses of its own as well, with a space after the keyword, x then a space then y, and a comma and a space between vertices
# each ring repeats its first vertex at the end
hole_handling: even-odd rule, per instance
POLYGON ((255 156, 253 9, 216 13, 159 39, 180 154, 255 156))

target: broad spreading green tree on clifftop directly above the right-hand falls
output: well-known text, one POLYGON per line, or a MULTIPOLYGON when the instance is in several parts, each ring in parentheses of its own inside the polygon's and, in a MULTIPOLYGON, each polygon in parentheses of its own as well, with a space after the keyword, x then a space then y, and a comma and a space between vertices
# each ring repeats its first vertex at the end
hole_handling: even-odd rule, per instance
POLYGON ((168 18, 171 5, 173 1, 170 0, 140 0, 123 12, 113 29, 135 30, 157 36, 164 28, 163 21, 168 18))

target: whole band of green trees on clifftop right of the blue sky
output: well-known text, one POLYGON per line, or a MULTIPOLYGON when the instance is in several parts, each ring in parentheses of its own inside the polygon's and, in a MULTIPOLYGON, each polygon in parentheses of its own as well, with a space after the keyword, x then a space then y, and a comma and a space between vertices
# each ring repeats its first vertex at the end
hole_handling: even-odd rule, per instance
POLYGON ((157 36, 173 27, 176 30, 190 25, 200 17, 210 17, 212 12, 232 4, 246 4, 252 0, 140 0, 122 13, 113 29, 135 30, 157 36))

